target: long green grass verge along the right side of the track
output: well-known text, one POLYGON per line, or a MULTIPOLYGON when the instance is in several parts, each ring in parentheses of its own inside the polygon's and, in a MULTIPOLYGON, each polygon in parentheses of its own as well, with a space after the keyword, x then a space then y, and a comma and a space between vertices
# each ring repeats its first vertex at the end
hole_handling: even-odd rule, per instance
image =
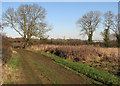
POLYGON ((82 74, 88 76, 89 78, 92 78, 103 84, 107 84, 107 85, 120 84, 120 78, 118 78, 117 76, 114 76, 108 72, 100 71, 96 68, 90 67, 90 66, 82 64, 82 63, 71 62, 71 61, 62 59, 53 54, 47 54, 47 53, 41 52, 41 51, 36 51, 36 52, 41 53, 45 56, 51 57, 55 62, 65 65, 65 66, 77 71, 78 73, 82 73, 82 74))

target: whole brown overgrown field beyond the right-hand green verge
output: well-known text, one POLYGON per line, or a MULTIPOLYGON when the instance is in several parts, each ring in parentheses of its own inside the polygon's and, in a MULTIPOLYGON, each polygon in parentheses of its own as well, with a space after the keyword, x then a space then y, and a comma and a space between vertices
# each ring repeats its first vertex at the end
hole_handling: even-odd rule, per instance
POLYGON ((87 64, 91 67, 118 75, 119 59, 118 48, 101 48, 93 46, 61 46, 61 45, 34 45, 28 50, 40 50, 55 54, 61 58, 87 64))

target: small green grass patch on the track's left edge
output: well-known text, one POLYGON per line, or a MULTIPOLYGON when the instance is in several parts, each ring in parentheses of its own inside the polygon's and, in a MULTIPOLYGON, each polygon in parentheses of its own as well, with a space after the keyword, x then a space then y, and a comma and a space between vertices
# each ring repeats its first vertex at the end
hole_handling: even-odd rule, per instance
POLYGON ((19 67, 19 62, 18 62, 18 54, 15 53, 13 54, 13 58, 11 59, 11 61, 8 63, 8 65, 10 65, 12 68, 16 69, 19 67))

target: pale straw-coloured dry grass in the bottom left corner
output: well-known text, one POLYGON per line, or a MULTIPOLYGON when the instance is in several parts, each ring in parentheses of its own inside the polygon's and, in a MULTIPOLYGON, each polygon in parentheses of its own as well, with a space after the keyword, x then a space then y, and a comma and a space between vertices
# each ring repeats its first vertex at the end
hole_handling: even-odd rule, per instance
POLYGON ((2 69, 2 84, 17 84, 17 82, 22 83, 21 71, 19 69, 14 69, 11 66, 4 65, 2 69))

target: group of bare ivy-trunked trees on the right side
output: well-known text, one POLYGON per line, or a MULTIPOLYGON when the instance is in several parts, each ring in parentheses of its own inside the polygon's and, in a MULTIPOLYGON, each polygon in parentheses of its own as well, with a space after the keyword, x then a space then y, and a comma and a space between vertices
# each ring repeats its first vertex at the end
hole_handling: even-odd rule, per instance
POLYGON ((105 46, 109 47, 110 41, 110 30, 113 31, 114 36, 117 39, 118 44, 120 43, 120 25, 119 25, 119 15, 114 15, 113 12, 107 11, 103 15, 103 22, 102 15, 99 11, 90 11, 89 13, 82 16, 77 21, 77 25, 81 28, 81 34, 85 34, 88 36, 88 42, 92 43, 92 37, 95 30, 98 28, 99 24, 103 24, 104 32, 101 32, 102 36, 104 37, 105 46))

